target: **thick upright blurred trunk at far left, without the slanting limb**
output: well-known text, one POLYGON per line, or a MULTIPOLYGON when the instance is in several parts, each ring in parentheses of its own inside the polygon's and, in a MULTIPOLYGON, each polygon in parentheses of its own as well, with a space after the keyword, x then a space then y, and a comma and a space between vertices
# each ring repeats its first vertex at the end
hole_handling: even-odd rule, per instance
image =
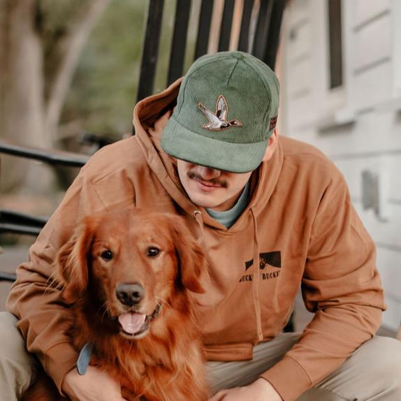
MULTIPOLYGON (((35 8, 35 0, 3 3, 0 136, 14 143, 48 148, 51 141, 44 131, 43 54, 34 27, 35 8)), ((2 156, 1 163, 2 191, 27 184, 32 162, 2 156)), ((28 184, 35 190, 42 187, 37 180, 28 184)))

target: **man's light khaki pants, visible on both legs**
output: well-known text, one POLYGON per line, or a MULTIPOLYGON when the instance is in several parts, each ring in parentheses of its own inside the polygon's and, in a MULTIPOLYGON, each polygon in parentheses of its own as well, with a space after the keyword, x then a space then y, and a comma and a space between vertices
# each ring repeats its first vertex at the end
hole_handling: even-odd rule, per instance
MULTIPOLYGON (((0 401, 15 401, 29 386, 37 367, 27 353, 24 340, 15 327, 17 319, 0 313, 0 401)), ((279 335, 254 348, 254 358, 241 362, 209 362, 210 386, 244 386, 277 363, 298 340, 295 333, 279 335)), ((291 377, 289 377, 291 386, 291 377)), ((359 347, 343 365, 297 401, 400 401, 401 342, 389 337, 374 337, 359 347)))

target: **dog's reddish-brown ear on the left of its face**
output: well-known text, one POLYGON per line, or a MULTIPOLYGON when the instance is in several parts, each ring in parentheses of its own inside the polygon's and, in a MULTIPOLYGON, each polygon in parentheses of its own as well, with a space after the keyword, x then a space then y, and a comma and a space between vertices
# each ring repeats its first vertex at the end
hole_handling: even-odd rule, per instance
POLYGON ((88 285, 88 261, 94 238, 94 221, 87 217, 57 254, 59 281, 63 298, 74 302, 85 294, 88 285))

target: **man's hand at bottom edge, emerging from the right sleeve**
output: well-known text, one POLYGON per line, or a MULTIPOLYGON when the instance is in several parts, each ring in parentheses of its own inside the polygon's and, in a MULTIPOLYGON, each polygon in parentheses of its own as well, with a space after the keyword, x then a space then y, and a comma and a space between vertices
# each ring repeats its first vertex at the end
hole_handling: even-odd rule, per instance
POLYGON ((257 379, 249 386, 229 388, 216 393, 209 401, 282 401, 279 393, 265 379, 257 379))

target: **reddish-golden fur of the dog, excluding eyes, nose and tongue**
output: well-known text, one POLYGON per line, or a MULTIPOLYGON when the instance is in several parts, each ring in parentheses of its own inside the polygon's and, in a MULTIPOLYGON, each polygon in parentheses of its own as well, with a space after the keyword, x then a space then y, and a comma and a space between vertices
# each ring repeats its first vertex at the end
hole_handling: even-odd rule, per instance
MULTIPOLYGON (((69 332, 75 348, 94 344, 91 365, 116 379, 126 400, 207 400, 189 292, 203 292, 205 256, 180 218, 138 209, 87 217, 60 249, 57 268, 64 299, 75 313, 69 332), (150 256, 150 248, 159 254, 150 256), (110 260, 102 257, 105 251, 111 251, 110 260), (138 305, 119 301, 116 287, 122 283, 143 286, 138 305), (157 305, 161 312, 146 334, 137 338, 122 331, 119 315, 150 316, 157 305)), ((23 400, 65 398, 43 372, 23 400)))

